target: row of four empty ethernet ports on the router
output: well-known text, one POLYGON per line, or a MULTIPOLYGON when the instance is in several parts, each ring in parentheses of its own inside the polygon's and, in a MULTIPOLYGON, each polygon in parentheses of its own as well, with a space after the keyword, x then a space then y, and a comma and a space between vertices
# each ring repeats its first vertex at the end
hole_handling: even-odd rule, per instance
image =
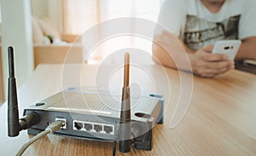
POLYGON ((113 135, 113 124, 99 124, 84 121, 73 121, 73 130, 113 135))

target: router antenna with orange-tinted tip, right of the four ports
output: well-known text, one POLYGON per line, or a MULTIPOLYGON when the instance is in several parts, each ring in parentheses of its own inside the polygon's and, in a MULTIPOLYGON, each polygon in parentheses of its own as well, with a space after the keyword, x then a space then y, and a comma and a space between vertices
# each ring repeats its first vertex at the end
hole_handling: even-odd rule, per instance
POLYGON ((129 88, 130 55, 125 53, 124 87, 122 91, 120 125, 119 125, 119 151, 128 153, 131 150, 131 102, 129 88))

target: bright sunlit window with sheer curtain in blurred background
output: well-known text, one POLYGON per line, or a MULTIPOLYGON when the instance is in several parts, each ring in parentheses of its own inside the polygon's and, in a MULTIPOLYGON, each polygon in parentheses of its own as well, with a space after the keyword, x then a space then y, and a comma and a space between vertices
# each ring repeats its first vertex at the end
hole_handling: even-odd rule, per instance
MULTIPOLYGON (((138 17, 156 21, 162 0, 63 0, 63 31, 83 34, 91 26, 104 20, 138 17)), ((151 43, 142 38, 111 38, 99 45, 89 59, 101 61, 113 51, 138 44, 151 52, 151 43), (104 52, 102 51, 104 49, 104 52)))

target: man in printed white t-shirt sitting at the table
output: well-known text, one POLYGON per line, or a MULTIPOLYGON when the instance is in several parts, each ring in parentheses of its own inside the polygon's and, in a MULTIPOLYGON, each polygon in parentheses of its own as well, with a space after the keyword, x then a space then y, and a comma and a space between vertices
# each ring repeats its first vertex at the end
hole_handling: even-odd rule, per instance
MULTIPOLYGON (((226 55, 211 54, 213 43, 223 39, 240 39, 238 59, 256 59, 255 0, 166 0, 160 11, 159 24, 168 32, 155 34, 153 55, 164 66, 177 64, 189 57, 192 72, 206 78, 215 77, 235 67, 226 55), (184 50, 177 46, 180 41, 184 50), (168 47, 167 51, 166 48, 168 47)), ((189 70, 183 66, 182 70, 189 70)))

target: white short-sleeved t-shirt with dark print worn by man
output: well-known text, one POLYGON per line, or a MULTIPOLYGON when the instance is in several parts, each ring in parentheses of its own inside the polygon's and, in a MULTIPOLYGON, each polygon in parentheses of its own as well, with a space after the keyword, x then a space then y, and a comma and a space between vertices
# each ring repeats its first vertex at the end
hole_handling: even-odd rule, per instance
POLYGON ((225 0, 215 14, 201 0, 166 0, 158 22, 190 49, 200 49, 221 39, 256 36, 255 10, 255 0, 225 0))

